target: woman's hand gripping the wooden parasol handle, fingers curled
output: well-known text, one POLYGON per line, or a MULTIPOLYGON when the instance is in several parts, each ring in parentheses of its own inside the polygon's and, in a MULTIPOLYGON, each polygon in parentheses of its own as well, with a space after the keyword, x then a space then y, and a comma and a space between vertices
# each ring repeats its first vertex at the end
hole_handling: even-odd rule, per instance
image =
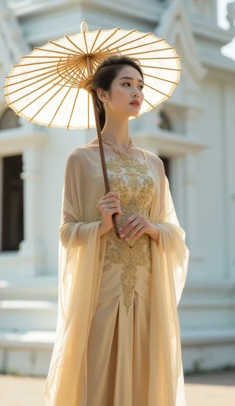
POLYGON ((102 221, 100 224, 101 236, 113 228, 112 215, 117 213, 117 218, 121 215, 120 197, 118 193, 109 192, 99 200, 98 207, 101 211, 102 221))

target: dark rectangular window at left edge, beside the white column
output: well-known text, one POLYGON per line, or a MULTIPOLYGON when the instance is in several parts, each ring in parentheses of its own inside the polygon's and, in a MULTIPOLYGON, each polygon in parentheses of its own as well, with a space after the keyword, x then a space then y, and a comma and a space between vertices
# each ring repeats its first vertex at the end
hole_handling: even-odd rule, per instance
POLYGON ((18 251, 23 240, 22 155, 3 158, 1 251, 18 251))

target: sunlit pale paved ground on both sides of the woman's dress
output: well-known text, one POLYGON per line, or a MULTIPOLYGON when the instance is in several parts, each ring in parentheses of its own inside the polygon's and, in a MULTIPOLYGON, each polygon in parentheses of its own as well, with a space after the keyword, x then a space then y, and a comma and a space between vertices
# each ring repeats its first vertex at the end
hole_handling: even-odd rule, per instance
MULTIPOLYGON (((185 377, 187 406, 234 406, 235 371, 185 377)), ((44 379, 0 375, 1 406, 44 406, 44 379)))

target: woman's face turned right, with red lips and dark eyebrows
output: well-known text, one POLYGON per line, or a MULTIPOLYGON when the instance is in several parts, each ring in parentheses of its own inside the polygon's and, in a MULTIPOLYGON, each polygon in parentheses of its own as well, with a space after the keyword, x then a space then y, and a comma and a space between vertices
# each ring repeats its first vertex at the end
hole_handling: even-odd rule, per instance
POLYGON ((124 66, 107 95, 109 113, 120 117, 137 116, 144 100, 143 85, 140 73, 132 66, 124 66), (130 104, 133 101, 136 103, 130 104))

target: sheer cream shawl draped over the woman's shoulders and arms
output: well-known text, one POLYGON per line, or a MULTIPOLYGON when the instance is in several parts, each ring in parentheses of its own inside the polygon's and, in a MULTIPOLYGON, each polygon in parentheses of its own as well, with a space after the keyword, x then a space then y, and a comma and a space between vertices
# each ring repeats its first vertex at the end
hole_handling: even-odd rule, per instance
MULTIPOLYGON (((164 166, 144 151, 156 182, 150 221, 160 239, 151 239, 152 288, 148 406, 183 406, 184 388, 177 305, 185 284, 188 249, 179 227, 164 166)), ((78 378, 85 371, 84 350, 96 310, 107 235, 100 237, 95 207, 104 196, 101 161, 87 146, 66 161, 59 228, 59 309, 56 343, 44 397, 46 406, 78 405, 78 378), (83 371, 83 372, 82 372, 83 371)), ((86 388, 87 389, 87 388, 86 388)), ((85 390, 86 392, 86 390, 85 390)), ((95 406, 95 405, 94 405, 95 406)))

